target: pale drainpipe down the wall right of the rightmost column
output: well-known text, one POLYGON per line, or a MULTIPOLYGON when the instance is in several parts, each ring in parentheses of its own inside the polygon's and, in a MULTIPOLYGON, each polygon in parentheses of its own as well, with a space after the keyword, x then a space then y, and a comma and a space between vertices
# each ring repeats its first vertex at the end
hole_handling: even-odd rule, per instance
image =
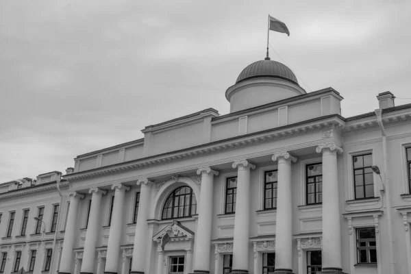
POLYGON ((390 179, 388 178, 388 161, 387 161, 387 137, 384 125, 382 123, 382 110, 375 110, 377 115, 377 123, 382 134, 382 155, 384 158, 384 186, 385 186, 385 199, 386 199, 386 216, 387 216, 387 228, 388 228, 388 248, 390 253, 390 272, 389 274, 395 274, 395 258, 394 258, 394 240, 393 240, 393 220, 391 219, 391 196, 390 196, 390 179))

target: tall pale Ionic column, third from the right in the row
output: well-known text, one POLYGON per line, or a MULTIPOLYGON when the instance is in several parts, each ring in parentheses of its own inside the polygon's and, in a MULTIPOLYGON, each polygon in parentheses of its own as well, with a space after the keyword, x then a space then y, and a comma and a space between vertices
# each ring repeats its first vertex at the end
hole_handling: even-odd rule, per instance
POLYGON ((256 166, 247 160, 238 160, 232 166, 238 169, 232 274, 245 274, 249 273, 250 169, 256 166))

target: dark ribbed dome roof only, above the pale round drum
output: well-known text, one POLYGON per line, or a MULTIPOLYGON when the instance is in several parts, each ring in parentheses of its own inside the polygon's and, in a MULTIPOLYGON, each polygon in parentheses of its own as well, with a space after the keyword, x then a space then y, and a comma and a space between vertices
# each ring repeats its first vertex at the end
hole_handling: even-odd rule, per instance
POLYGON ((274 77, 284 79, 298 85, 297 77, 295 77, 295 74, 288 68, 288 66, 280 62, 270 60, 270 58, 265 58, 265 60, 260 60, 253 62, 253 64, 249 64, 241 71, 240 75, 238 75, 236 84, 238 82, 257 77, 274 77))

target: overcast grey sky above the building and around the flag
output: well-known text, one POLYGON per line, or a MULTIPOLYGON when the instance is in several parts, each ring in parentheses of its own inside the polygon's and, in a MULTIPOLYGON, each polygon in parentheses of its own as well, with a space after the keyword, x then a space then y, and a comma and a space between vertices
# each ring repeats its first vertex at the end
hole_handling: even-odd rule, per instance
POLYGON ((74 166, 206 108, 266 53, 343 116, 411 103, 411 1, 0 0, 0 182, 74 166))

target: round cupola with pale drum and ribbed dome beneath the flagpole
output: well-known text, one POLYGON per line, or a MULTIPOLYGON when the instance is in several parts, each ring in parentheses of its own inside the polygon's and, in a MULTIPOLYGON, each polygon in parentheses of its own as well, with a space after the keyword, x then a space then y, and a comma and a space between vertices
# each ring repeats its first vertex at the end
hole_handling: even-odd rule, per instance
POLYGON ((225 97, 230 112, 237 112, 303 94, 306 90, 288 66, 266 57, 246 66, 236 84, 227 88, 225 97))

